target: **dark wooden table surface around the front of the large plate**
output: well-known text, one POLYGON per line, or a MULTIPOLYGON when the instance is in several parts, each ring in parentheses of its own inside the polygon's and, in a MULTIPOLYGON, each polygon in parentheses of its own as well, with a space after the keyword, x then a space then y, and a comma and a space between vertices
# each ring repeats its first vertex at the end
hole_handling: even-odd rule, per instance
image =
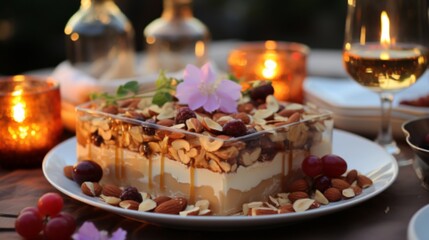
MULTIPOLYGON (((70 133, 66 135, 71 136, 70 133)), ((409 149, 402 143, 405 152, 409 149)), ((0 169, 0 212, 16 214, 35 206, 46 192, 58 192, 43 176, 42 170, 0 169)), ((136 222, 86 205, 63 195, 64 210, 73 214, 80 226, 93 221, 100 229, 118 227, 128 232, 128 239, 406 239, 413 214, 429 203, 429 192, 419 183, 411 165, 400 167, 397 180, 376 197, 357 206, 322 217, 299 221, 276 228, 240 232, 204 232, 177 230, 136 222), (245 234, 245 235, 244 235, 245 234)), ((13 231, 14 219, 0 218, 0 239, 19 239, 13 231), (9 230, 8 230, 9 228, 9 230)), ((221 229, 220 229, 221 230, 221 229)))

